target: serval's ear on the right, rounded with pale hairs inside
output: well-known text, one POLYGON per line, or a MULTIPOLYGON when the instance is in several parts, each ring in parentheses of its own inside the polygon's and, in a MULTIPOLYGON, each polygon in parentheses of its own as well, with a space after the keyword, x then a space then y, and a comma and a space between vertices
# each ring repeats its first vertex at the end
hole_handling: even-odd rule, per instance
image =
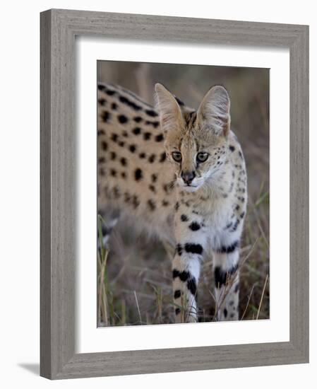
POLYGON ((230 130, 230 99, 223 86, 213 86, 198 108, 197 120, 202 128, 227 137, 230 130))

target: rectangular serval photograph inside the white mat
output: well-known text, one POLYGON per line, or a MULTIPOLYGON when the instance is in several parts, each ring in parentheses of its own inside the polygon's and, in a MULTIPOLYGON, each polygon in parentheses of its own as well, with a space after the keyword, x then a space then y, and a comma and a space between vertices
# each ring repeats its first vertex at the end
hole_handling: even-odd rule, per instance
POLYGON ((97 327, 270 319, 270 69, 97 61, 97 327))

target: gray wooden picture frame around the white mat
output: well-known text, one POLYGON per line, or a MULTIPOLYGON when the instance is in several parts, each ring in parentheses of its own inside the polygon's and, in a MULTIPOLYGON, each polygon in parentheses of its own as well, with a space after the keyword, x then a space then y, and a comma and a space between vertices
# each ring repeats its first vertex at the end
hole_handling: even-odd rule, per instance
POLYGON ((309 361, 309 27, 49 10, 41 13, 40 374, 58 378, 309 361), (290 53, 290 339, 75 353, 75 37, 287 47, 290 53))

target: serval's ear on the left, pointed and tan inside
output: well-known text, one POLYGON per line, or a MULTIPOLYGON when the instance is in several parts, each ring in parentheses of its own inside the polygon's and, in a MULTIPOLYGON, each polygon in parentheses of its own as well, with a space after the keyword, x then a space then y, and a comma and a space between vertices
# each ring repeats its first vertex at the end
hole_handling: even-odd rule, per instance
POLYGON ((181 115, 181 108, 172 93, 167 91, 161 83, 155 84, 156 106, 160 112, 160 120, 163 131, 179 129, 184 125, 184 118, 181 115))

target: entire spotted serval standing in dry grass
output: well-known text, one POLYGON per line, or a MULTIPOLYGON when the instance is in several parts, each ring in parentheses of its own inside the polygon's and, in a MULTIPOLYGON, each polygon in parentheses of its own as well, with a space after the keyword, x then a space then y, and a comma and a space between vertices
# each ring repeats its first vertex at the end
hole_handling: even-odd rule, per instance
POLYGON ((197 320, 201 264, 213 257, 218 320, 239 319, 239 245, 246 166, 230 129, 225 88, 198 110, 161 84, 156 108, 120 86, 98 84, 98 207, 104 239, 120 214, 172 245, 176 322, 197 320))

